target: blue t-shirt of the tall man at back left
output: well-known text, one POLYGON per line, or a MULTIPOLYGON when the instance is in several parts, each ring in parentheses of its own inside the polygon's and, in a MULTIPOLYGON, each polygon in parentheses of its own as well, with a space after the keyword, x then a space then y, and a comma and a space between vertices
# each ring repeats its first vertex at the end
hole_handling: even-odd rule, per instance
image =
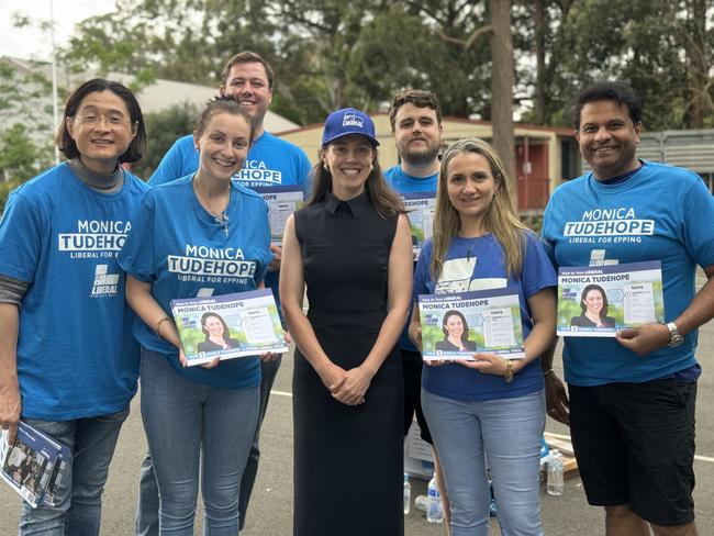
MULTIPOLYGON (((193 174, 198 168, 199 153, 193 145, 193 136, 183 136, 166 153, 148 183, 152 187, 164 185, 193 174)), ((310 190, 310 160, 304 150, 269 132, 264 132, 253 142, 243 168, 233 178, 248 188, 300 186, 306 196, 310 190)), ((272 290, 278 310, 279 278, 279 271, 269 271, 265 279, 266 287, 272 290)))

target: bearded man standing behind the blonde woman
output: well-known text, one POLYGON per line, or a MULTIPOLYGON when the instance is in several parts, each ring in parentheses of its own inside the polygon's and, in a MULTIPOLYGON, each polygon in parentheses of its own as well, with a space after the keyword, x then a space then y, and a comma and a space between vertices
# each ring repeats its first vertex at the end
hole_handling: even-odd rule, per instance
MULTIPOLYGON (((408 89, 397 93, 389 110, 389 121, 400 163, 384 171, 387 183, 402 196, 419 193, 434 197, 442 148, 442 110, 436 96, 421 89, 408 89)), ((410 312, 409 317, 411 316, 410 312)), ((409 339, 408 327, 409 321, 399 339, 404 376, 404 435, 409 433, 416 414, 422 439, 433 446, 434 442, 422 412, 422 355, 409 339)), ((434 455, 437 484, 448 526, 448 499, 438 470, 436 451, 434 455)))

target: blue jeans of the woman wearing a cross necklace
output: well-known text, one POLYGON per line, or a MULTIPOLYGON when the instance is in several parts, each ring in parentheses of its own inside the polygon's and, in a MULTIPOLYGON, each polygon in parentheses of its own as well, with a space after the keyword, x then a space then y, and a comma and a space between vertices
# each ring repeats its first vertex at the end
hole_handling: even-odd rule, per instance
POLYGON ((165 357, 146 349, 142 349, 141 378, 160 534, 193 535, 200 472, 204 534, 235 536, 238 488, 258 422, 259 388, 225 389, 188 381, 165 357))

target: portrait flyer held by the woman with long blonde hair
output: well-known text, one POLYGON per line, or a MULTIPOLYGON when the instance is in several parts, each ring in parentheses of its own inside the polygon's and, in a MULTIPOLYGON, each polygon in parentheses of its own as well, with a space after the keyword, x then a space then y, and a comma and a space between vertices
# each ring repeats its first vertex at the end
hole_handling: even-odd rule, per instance
POLYGON ((422 357, 473 360, 475 353, 525 357, 518 294, 512 289, 419 297, 422 357))

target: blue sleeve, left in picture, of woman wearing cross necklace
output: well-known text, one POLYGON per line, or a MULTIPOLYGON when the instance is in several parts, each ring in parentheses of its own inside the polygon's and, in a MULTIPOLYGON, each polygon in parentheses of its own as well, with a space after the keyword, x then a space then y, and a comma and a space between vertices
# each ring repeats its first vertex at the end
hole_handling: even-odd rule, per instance
POLYGON ((119 265, 130 276, 143 282, 156 279, 156 255, 154 249, 155 193, 149 191, 132 219, 132 228, 126 235, 124 247, 119 252, 119 265))

